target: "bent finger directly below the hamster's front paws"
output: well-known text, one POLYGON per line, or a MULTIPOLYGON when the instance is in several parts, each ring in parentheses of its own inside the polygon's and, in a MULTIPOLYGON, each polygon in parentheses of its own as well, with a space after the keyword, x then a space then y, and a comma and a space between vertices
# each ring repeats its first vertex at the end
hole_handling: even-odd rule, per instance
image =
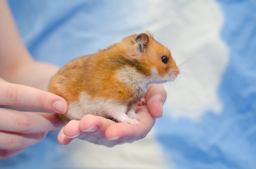
POLYGON ((139 126, 128 123, 116 123, 106 129, 106 138, 110 140, 134 141, 144 138, 153 127, 155 119, 152 118, 146 106, 140 106, 137 114, 141 116, 139 126))

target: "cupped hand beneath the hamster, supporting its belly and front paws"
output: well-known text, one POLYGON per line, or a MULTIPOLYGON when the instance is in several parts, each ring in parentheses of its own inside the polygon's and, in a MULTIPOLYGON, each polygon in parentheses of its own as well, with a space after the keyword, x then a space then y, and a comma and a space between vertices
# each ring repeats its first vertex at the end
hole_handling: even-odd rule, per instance
POLYGON ((58 141, 62 145, 68 145, 74 138, 79 138, 97 145, 113 147, 142 139, 153 127, 155 118, 162 117, 162 105, 165 98, 166 91, 162 85, 149 85, 146 105, 138 106, 136 110, 141 116, 139 126, 116 123, 99 116, 85 115, 80 121, 68 122, 61 129, 58 141))

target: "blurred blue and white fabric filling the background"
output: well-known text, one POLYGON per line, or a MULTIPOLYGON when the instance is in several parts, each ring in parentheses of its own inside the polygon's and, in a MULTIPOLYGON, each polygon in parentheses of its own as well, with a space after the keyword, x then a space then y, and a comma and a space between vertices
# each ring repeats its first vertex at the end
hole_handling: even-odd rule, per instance
POLYGON ((8 2, 36 60, 63 66, 149 29, 182 73, 146 138, 63 147, 53 131, 1 169, 256 169, 256 0, 8 2))

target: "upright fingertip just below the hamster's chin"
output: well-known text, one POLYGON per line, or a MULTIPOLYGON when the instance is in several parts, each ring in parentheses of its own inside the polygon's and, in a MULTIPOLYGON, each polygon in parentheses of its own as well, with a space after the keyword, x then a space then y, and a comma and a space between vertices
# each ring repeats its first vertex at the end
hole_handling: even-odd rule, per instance
POLYGON ((166 99, 166 91, 162 85, 149 85, 146 96, 146 105, 153 118, 162 117, 163 104, 166 99))

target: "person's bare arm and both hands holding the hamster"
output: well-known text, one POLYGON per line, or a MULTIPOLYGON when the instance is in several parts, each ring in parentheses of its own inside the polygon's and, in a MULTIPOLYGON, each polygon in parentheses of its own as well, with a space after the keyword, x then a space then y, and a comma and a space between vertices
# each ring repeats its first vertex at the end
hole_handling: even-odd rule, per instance
POLYGON ((59 129, 58 141, 68 145, 74 138, 112 147, 144 138, 155 118, 162 116, 166 91, 150 85, 146 104, 137 108, 139 126, 86 115, 63 124, 54 113, 65 113, 67 101, 47 92, 49 79, 59 67, 36 62, 22 43, 7 2, 0 1, 0 159, 15 156, 59 129), (42 71, 43 70, 43 71, 42 71), (25 106, 25 107, 11 107, 25 106), (15 109, 15 110, 14 110, 15 109))

